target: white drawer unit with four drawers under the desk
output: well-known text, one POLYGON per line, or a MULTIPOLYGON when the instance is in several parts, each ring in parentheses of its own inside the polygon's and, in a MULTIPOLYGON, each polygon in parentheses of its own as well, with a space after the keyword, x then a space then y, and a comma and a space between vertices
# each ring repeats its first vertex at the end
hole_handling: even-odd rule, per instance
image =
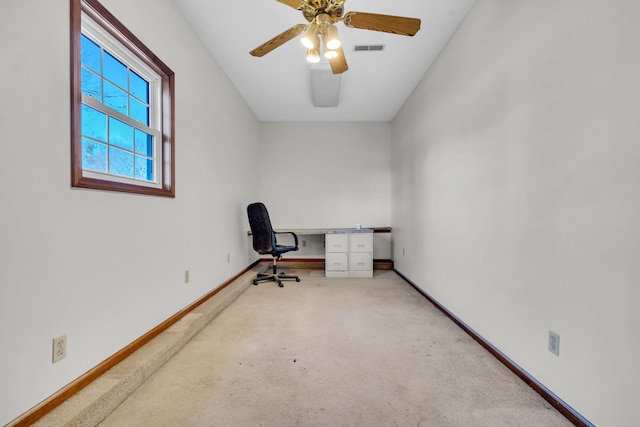
POLYGON ((373 233, 367 231, 325 236, 326 277, 373 277, 373 233))

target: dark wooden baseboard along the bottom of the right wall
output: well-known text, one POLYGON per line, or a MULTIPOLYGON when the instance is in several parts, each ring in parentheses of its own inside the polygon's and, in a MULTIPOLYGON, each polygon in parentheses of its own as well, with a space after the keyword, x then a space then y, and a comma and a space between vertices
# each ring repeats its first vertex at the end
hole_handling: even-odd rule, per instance
POLYGON ((438 310, 443 312, 456 325, 458 325, 463 331, 465 331, 469 336, 471 336, 471 338, 477 341, 482 347, 484 347, 489 353, 491 353, 496 359, 498 359, 503 365, 509 368, 509 370, 511 370, 514 374, 516 374, 522 381, 527 383, 529 387, 534 389, 540 396, 542 396, 547 402, 549 402, 551 406, 556 408, 558 412, 564 415, 574 425, 579 427, 594 427, 594 425, 590 423, 586 418, 584 418, 582 415, 576 412, 573 408, 567 405, 564 401, 558 398, 558 396, 556 396, 550 390, 548 390, 546 387, 540 384, 535 378, 533 378, 526 371, 524 371, 520 366, 518 366, 514 361, 512 361, 507 356, 505 356, 502 352, 500 352, 489 341, 487 341, 481 335, 479 335, 476 331, 474 331, 469 325, 464 323, 462 320, 456 317, 453 313, 447 310, 443 305, 441 305, 428 293, 420 289, 420 287, 418 287, 415 283, 409 280, 406 276, 404 276, 398 270, 394 269, 394 271, 400 277, 402 277, 402 279, 404 279, 408 284, 410 284, 415 290, 420 292, 420 294, 422 294, 422 296, 424 296, 438 310))

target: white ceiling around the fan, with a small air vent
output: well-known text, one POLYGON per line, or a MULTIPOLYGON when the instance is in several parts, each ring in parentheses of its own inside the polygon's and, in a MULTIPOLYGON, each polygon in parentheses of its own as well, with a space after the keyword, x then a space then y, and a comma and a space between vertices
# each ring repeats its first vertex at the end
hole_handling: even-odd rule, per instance
POLYGON ((306 24, 300 11, 276 0, 174 2, 260 120, 390 121, 475 0, 347 0, 345 13, 407 16, 422 25, 405 37, 339 22, 349 70, 341 75, 337 107, 314 107, 311 64, 299 37, 261 58, 249 55, 293 25, 306 24), (354 45, 373 44, 384 50, 354 51, 354 45))

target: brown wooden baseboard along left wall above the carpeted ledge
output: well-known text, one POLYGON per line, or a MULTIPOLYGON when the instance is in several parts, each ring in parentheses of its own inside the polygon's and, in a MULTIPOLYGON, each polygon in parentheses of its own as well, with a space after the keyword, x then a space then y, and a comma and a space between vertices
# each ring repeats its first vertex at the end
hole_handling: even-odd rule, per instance
POLYGON ((142 346, 147 344, 149 341, 160 335, 166 329, 168 329, 171 325, 182 319, 185 315, 193 311, 196 307, 216 295, 218 292, 229 286, 235 280, 237 280, 240 276, 251 270, 254 266, 256 266, 260 261, 256 261, 251 264, 249 267, 245 268, 242 272, 236 274, 231 279, 227 280, 223 284, 221 284, 218 288, 209 292, 193 304, 174 314, 146 334, 142 335, 140 338, 132 342, 131 344, 124 347, 122 350, 118 351, 108 359, 104 360, 99 365, 92 368, 90 371, 86 372, 72 383, 66 385, 62 389, 58 390, 55 394, 47 398, 46 400, 40 402, 38 405, 31 408, 29 411, 20 415, 15 420, 11 421, 7 426, 11 427, 27 427, 44 417, 46 414, 51 412, 57 406, 61 405, 64 401, 69 399, 71 396, 91 384, 91 382, 95 381, 102 374, 107 372, 109 369, 116 366, 118 363, 122 362, 128 356, 133 354, 136 350, 140 349, 142 346))

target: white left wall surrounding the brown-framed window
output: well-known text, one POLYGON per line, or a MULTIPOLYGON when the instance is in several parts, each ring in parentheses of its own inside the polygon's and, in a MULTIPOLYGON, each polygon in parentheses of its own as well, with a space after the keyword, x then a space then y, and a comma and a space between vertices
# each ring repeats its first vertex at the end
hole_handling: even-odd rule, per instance
POLYGON ((249 262, 257 119, 170 0, 102 4, 176 73, 176 198, 70 188, 69 1, 2 1, 0 425, 249 262))

